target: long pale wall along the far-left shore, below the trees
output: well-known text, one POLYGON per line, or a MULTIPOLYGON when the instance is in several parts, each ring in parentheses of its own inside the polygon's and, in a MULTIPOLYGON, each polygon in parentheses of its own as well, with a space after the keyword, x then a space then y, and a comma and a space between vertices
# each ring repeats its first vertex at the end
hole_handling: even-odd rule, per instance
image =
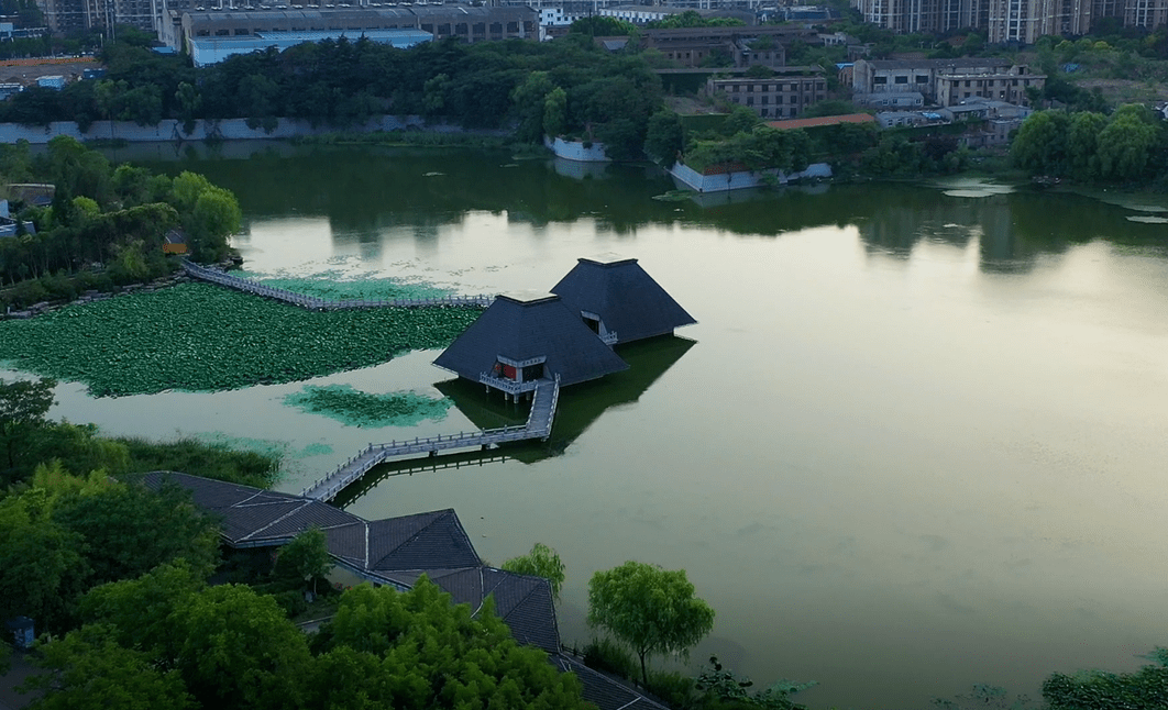
POLYGON ((374 131, 402 131, 417 128, 431 132, 457 133, 463 128, 447 125, 426 125, 419 116, 380 116, 364 125, 338 128, 319 125, 313 127, 307 119, 281 118, 276 130, 265 133, 263 127, 249 128, 246 119, 230 118, 220 121, 195 121, 195 130, 182 132, 182 121, 164 120, 154 126, 139 126, 132 121, 98 120, 82 132, 75 121, 55 121, 48 126, 23 126, 20 124, 0 124, 0 141, 15 142, 27 140, 32 144, 46 144, 57 135, 71 135, 77 140, 125 140, 128 142, 152 142, 165 140, 204 140, 221 138, 223 140, 246 140, 265 138, 296 138, 298 135, 318 135, 338 131, 354 133, 371 133, 374 131))

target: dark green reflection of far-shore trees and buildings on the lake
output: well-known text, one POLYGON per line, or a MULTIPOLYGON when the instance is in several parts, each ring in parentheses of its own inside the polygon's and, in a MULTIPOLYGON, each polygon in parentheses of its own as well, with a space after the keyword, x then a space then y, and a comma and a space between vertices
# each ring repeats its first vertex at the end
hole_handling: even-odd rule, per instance
POLYGON ((235 190, 250 220, 327 217, 338 245, 352 252, 361 244, 369 256, 381 253, 376 244, 402 238, 434 249, 444 228, 465 228, 475 211, 537 228, 591 218, 602 234, 623 238, 654 224, 750 236, 856 225, 870 255, 894 259, 908 258, 922 239, 964 248, 979 238, 981 267, 989 272, 1027 271, 1041 255, 1099 237, 1168 245, 1157 221, 1129 220, 1133 208, 1030 186, 814 185, 668 202, 653 200, 673 187, 654 166, 515 161, 506 152, 228 144, 131 146, 111 158, 201 172, 235 190))

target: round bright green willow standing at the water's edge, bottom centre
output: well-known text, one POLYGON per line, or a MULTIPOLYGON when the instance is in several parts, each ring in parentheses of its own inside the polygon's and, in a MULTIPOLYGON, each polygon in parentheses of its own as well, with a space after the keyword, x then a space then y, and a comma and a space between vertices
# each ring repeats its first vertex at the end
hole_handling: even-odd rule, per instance
POLYGON ((689 649, 714 628, 714 610, 694 596, 684 570, 662 570, 640 562, 600 571, 588 585, 588 621, 627 643, 641 661, 660 654, 688 657, 689 649))

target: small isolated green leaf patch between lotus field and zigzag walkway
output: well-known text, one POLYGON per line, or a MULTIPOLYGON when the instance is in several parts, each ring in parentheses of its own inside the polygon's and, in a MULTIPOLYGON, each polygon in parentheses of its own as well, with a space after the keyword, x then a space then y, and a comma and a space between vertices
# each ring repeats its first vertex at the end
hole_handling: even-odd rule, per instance
POLYGON ((284 398, 284 404, 301 411, 322 415, 345 424, 375 429, 412 426, 423 419, 446 417, 450 399, 431 399, 413 392, 371 395, 347 384, 305 385, 284 398))

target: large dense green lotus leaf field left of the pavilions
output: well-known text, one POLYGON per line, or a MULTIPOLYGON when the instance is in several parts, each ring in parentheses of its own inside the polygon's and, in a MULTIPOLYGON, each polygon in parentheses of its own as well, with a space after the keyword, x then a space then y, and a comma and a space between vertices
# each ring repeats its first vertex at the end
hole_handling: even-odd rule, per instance
POLYGON ((314 313, 211 286, 72 305, 0 321, 0 362, 84 382, 95 397, 297 382, 444 348, 477 308, 314 313))

